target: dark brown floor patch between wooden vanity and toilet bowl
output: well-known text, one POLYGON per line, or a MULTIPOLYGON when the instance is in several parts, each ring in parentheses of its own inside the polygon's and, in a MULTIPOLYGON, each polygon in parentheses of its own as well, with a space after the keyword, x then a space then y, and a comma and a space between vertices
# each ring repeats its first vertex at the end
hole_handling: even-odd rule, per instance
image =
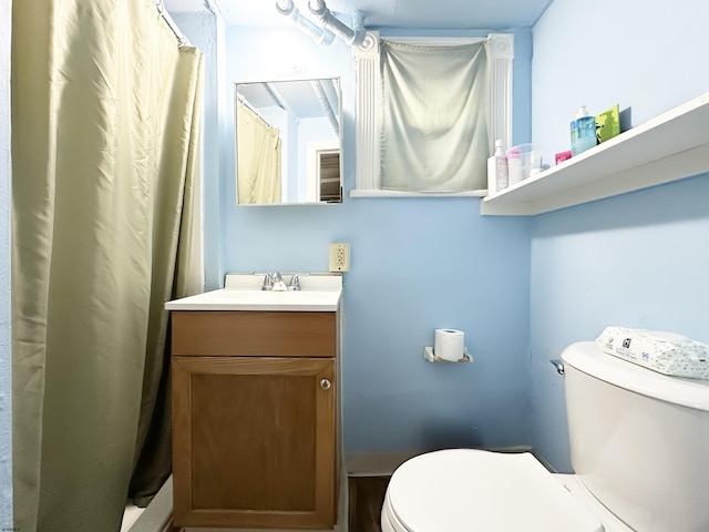
POLYGON ((390 477, 349 478, 349 532, 381 532, 381 505, 390 477))

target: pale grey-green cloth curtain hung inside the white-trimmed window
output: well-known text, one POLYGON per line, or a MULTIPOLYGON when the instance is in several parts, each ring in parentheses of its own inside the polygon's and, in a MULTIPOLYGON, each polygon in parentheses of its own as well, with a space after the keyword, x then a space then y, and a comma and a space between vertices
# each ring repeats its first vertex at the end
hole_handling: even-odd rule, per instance
POLYGON ((490 156, 485 42, 381 41, 381 188, 486 188, 490 156))

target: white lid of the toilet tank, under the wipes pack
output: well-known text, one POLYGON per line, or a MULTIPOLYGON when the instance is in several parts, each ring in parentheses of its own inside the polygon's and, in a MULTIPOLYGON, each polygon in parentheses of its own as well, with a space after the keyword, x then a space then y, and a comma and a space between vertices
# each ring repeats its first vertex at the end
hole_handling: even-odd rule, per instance
POLYGON ((610 385, 709 412, 709 380, 670 377, 603 352, 594 341, 577 341, 562 352, 565 365, 610 385))

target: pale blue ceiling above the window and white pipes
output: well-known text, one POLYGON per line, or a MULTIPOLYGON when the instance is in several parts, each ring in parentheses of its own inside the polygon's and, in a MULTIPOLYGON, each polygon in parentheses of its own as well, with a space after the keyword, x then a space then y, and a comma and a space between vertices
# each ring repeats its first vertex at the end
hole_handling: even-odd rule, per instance
MULTIPOLYGON (((366 28, 431 30, 503 30, 531 28, 553 0, 326 0, 346 22, 359 11, 366 28)), ((308 16, 308 1, 294 0, 308 16)), ((276 0, 165 0, 169 12, 216 8, 228 25, 280 27, 287 20, 276 0)))

